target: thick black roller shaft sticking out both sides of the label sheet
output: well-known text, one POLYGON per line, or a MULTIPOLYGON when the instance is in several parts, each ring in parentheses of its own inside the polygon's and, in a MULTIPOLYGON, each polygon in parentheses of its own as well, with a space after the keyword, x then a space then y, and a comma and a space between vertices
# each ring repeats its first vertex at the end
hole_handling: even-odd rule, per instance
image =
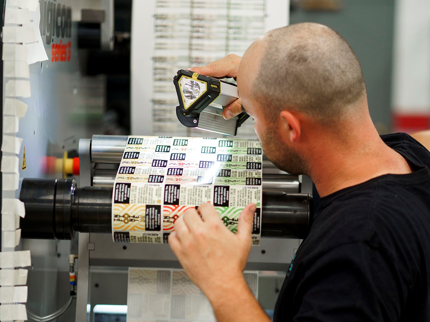
MULTIPOLYGON (((82 233, 111 233, 112 187, 77 188, 72 179, 28 179, 20 199, 22 238, 73 239, 82 233)), ((263 191, 261 236, 305 238, 312 223, 312 196, 263 191)))

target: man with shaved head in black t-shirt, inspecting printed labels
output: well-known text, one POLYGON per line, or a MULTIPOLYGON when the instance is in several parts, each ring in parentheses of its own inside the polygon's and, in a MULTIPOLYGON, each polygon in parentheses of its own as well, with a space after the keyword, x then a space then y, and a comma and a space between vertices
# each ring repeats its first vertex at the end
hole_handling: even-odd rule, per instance
MULTIPOLYGON (((241 101, 224 117, 242 105, 266 156, 309 175, 321 196, 274 321, 430 321, 430 153, 404 133, 378 135, 346 41, 323 25, 290 25, 242 59, 191 70, 237 77, 241 101)), ((254 211, 244 209, 234 235, 203 204, 203 221, 186 212, 169 236, 218 322, 269 321, 242 277, 254 211)))

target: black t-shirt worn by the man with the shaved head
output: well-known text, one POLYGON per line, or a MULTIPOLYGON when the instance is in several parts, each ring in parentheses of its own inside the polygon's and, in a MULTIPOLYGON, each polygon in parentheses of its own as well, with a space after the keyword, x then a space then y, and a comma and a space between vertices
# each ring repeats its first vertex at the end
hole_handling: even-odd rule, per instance
POLYGON ((381 138, 414 172, 321 198, 273 321, 430 321, 430 153, 405 133, 381 138))

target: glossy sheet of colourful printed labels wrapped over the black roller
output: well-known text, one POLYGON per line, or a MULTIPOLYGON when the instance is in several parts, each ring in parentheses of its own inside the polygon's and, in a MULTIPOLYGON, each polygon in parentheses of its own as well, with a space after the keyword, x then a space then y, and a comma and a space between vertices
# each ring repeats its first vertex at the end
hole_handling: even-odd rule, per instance
POLYGON ((115 242, 166 243, 187 209, 211 202, 233 232, 250 202, 260 245, 262 150, 258 140, 129 136, 114 182, 115 242))

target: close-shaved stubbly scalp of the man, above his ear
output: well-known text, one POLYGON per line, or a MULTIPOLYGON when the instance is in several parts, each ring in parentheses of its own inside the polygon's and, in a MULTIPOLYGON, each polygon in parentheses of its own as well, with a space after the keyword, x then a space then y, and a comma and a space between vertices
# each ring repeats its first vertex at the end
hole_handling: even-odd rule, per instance
POLYGON ((255 52, 258 46, 261 52, 261 45, 264 53, 258 55, 260 65, 251 91, 271 115, 299 111, 326 122, 344 116, 365 97, 359 61, 331 28, 300 23, 274 29, 249 50, 255 52))

